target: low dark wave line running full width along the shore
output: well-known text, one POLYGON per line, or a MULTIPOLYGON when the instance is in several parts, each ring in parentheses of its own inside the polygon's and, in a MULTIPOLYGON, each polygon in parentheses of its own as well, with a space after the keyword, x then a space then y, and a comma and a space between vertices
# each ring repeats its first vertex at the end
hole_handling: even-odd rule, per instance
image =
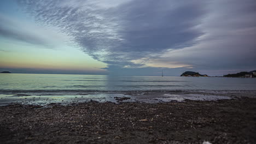
MULTIPOLYGON (((26 89, 6 89, 0 90, 0 94, 18 94, 18 95, 84 95, 84 94, 98 94, 98 93, 121 93, 121 94, 139 94, 139 93, 165 93, 165 94, 181 94, 181 93, 197 93, 197 94, 222 94, 222 93, 246 93, 255 95, 256 91, 209 91, 203 89, 159 89, 159 88, 152 88, 152 89, 127 89, 127 90, 95 90, 95 89, 38 89, 38 90, 26 90, 26 89)), ((236 94, 237 95, 237 94, 236 94)))

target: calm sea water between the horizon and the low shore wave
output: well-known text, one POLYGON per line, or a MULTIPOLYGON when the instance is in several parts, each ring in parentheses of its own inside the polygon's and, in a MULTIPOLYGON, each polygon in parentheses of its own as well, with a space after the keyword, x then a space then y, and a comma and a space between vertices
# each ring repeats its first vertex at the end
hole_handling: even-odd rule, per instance
POLYGON ((7 91, 256 90, 256 79, 181 76, 0 74, 7 91))

